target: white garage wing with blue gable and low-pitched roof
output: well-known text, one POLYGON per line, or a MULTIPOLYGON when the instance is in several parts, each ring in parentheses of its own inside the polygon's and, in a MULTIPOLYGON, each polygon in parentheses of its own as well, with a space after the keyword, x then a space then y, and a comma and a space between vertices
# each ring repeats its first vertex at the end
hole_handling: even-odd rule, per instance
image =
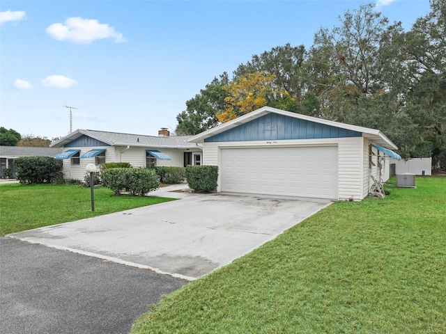
POLYGON ((377 129, 263 107, 187 139, 219 167, 217 191, 362 200, 397 146, 377 129))

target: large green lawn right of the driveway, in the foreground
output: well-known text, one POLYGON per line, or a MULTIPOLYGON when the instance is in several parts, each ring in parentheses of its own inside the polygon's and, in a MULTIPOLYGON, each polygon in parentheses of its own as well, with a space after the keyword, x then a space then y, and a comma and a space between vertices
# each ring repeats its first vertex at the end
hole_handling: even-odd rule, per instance
POLYGON ((132 333, 446 333, 446 177, 387 189, 188 283, 132 333))

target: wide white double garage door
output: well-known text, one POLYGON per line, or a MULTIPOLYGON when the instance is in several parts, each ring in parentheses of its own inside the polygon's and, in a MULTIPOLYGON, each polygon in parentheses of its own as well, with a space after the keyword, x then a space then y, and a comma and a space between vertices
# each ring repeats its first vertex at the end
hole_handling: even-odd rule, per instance
POLYGON ((222 191, 338 198, 336 146, 221 152, 222 191))

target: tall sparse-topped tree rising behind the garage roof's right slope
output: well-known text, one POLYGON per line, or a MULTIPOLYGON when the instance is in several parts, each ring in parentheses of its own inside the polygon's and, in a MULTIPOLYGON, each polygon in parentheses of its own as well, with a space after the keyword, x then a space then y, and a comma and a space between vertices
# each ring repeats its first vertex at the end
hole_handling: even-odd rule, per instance
POLYGON ((321 116, 345 122, 362 95, 383 90, 378 52, 388 20, 369 3, 339 17, 331 31, 320 29, 309 54, 309 89, 321 99, 321 116))

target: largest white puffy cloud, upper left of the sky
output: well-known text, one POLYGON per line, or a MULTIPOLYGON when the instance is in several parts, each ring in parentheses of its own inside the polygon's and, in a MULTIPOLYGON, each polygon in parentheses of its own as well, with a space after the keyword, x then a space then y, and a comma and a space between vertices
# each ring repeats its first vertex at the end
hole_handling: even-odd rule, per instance
POLYGON ((97 19, 70 17, 65 24, 54 23, 47 28, 47 33, 56 40, 71 40, 78 43, 91 43, 94 40, 114 38, 114 42, 126 42, 122 33, 114 31, 108 24, 100 24, 97 19))

